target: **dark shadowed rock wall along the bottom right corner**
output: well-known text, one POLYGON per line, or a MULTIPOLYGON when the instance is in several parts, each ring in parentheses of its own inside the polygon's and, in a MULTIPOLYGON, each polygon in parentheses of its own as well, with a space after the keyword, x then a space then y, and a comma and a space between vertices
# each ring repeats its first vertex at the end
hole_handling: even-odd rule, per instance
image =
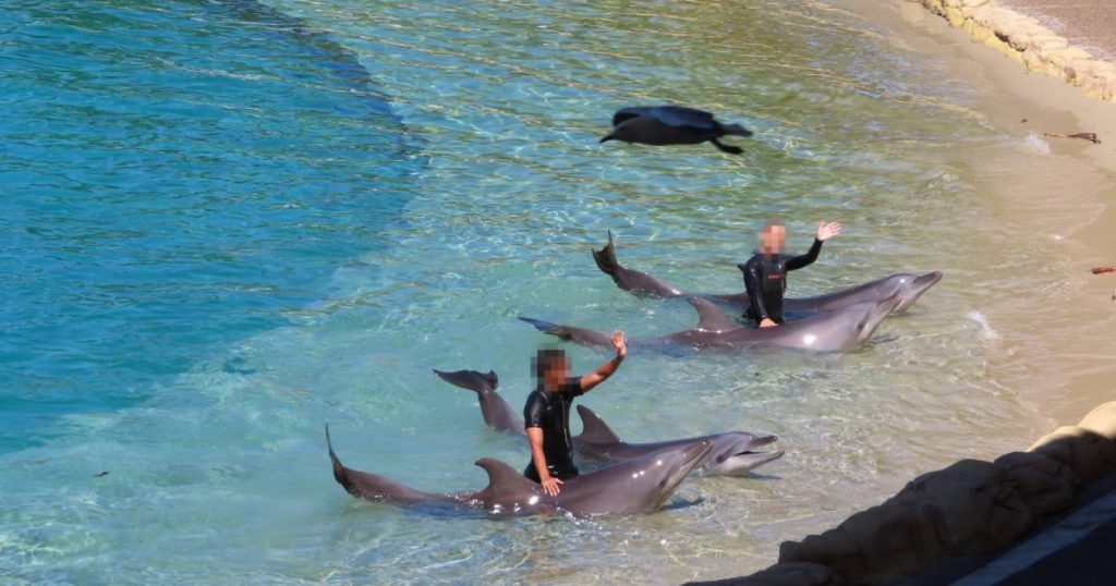
POLYGON ((962 460, 925 473, 835 529, 785 541, 779 563, 760 573, 695 584, 885 582, 949 555, 1001 549, 1037 519, 1072 507, 1077 487, 1109 473, 1116 473, 1116 401, 1039 439, 1026 452, 992 462, 962 460))

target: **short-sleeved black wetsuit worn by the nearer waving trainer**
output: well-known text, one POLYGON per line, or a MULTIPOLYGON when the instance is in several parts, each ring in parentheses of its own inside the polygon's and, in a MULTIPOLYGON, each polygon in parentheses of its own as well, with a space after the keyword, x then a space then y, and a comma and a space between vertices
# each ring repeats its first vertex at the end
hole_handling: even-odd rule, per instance
MULTIPOLYGON (((574 443, 569 438, 569 407, 574 398, 584 393, 581 378, 570 377, 555 392, 543 391, 540 384, 527 396, 527 405, 523 406, 523 425, 542 429, 542 454, 547 458, 547 470, 560 480, 579 474, 574 465, 574 443)), ((541 482, 533 459, 527 464, 523 475, 541 482)))

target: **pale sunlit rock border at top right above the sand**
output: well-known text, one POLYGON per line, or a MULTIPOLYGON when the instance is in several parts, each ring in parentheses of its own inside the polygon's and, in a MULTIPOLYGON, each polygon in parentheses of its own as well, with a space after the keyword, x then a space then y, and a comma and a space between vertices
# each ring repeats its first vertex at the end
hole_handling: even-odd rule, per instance
POLYGON ((1040 71, 1080 86, 1086 96, 1116 103, 1116 64, 1070 47, 1069 41, 1030 17, 995 0, 912 0, 945 17, 973 40, 1040 71))

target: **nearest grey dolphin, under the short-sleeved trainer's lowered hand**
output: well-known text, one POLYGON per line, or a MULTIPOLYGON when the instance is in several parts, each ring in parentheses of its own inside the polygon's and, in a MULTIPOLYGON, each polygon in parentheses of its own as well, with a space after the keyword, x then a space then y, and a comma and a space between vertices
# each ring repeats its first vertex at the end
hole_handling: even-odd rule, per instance
POLYGON ((326 443, 334 479, 354 497, 403 507, 474 509, 493 516, 546 515, 558 510, 581 516, 653 512, 713 448, 709 441, 665 448, 566 480, 558 496, 551 497, 510 465, 491 458, 477 461, 489 477, 483 490, 454 494, 422 492, 379 474, 346 468, 334 452, 328 425, 326 443))

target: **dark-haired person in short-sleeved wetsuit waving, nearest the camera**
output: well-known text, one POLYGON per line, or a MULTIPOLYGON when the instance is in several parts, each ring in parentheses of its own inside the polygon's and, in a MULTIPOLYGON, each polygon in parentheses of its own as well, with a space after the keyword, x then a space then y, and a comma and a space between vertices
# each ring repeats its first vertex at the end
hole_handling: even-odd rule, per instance
POLYGON ((613 334, 616 357, 593 374, 569 376, 569 359, 559 349, 541 349, 531 361, 539 385, 523 406, 523 424, 531 442, 531 462, 523 475, 542 484, 547 494, 557 496, 558 484, 578 475, 574 465, 574 445, 569 438, 569 407, 574 398, 604 383, 627 356, 623 332, 613 334))

